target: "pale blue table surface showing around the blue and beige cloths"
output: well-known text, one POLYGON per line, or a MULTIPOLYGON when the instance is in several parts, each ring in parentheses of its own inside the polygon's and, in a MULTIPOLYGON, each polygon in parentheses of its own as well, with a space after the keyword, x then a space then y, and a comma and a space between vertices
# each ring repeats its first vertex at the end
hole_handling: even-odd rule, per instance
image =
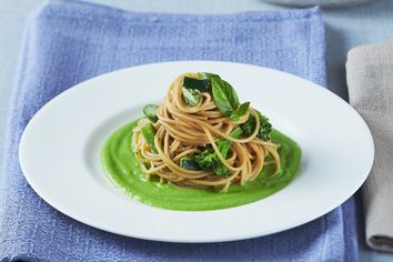
MULTIPOLYGON (((26 18, 30 11, 44 2, 44 0, 0 1, 0 175, 3 164, 4 129, 26 18)), ((228 13, 280 8, 263 3, 261 0, 92 0, 92 2, 133 11, 183 13, 228 13)), ((355 46, 393 41, 393 1, 373 0, 355 7, 323 9, 323 16, 326 27, 329 88, 346 99, 346 53, 355 46)), ((361 261, 393 261, 393 254, 372 251, 364 245, 363 229, 360 229, 359 234, 361 261)))

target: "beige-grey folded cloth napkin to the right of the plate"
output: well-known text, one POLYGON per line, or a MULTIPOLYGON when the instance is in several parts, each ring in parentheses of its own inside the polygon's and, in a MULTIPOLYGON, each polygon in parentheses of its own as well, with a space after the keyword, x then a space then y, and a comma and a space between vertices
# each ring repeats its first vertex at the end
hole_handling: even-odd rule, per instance
POLYGON ((375 143, 374 164, 362 189, 366 242, 393 252, 393 42, 352 49, 346 79, 350 103, 367 122, 375 143))

